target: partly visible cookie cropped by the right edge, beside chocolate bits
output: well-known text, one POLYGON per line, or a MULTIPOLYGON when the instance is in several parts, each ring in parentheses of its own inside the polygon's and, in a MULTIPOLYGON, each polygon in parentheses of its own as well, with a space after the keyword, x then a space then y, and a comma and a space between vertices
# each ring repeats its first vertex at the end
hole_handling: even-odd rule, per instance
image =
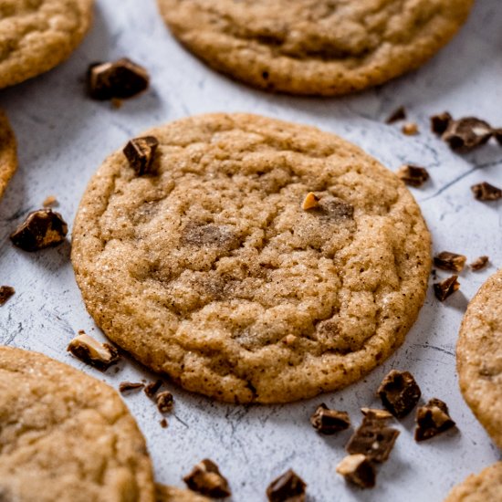
POLYGON ((470 301, 456 346, 460 390, 502 448, 502 269, 470 301))

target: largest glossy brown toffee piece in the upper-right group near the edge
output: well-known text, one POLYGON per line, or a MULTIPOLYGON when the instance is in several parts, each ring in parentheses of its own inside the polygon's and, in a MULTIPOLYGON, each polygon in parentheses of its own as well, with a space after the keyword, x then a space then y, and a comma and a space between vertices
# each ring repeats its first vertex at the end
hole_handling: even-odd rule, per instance
POLYGON ((441 139, 447 142, 452 150, 470 152, 484 145, 492 135, 492 128, 485 120, 465 117, 465 119, 450 120, 441 139))

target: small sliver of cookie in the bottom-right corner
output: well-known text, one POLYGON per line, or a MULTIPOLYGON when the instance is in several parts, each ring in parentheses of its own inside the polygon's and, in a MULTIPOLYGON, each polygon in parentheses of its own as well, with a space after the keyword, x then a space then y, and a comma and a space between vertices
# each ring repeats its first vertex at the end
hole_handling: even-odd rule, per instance
POLYGON ((502 462, 468 476, 455 486, 444 502, 488 502, 502 500, 502 462))

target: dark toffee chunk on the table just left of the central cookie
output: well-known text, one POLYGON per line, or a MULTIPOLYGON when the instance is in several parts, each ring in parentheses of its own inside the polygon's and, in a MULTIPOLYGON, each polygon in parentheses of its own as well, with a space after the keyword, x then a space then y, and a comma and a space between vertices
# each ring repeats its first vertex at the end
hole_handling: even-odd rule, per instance
POLYGON ((58 246, 68 234, 68 225, 61 214, 52 209, 39 209, 27 215, 26 220, 10 235, 10 240, 25 251, 38 251, 58 246))

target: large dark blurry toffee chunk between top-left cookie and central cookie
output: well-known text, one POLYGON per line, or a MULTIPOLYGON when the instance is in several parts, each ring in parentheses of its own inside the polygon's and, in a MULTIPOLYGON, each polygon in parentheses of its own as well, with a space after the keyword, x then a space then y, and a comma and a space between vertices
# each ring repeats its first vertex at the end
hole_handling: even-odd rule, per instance
POLYGON ((150 77, 145 68, 122 58, 114 63, 89 66, 88 86, 92 99, 128 99, 148 89, 150 77))

